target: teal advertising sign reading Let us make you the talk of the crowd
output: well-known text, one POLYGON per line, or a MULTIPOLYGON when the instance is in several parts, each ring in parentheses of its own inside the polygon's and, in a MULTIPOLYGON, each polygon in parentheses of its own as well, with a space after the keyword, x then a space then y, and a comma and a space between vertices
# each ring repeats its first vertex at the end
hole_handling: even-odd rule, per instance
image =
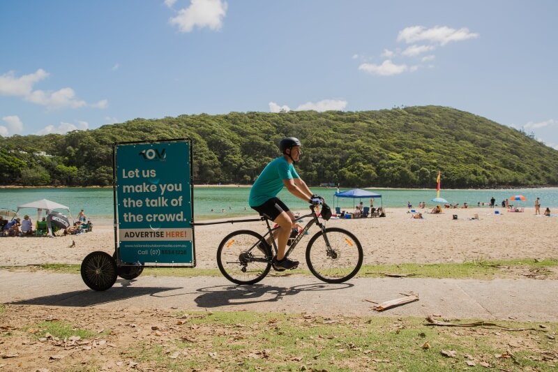
POLYGON ((195 266, 191 154, 190 140, 114 145, 122 262, 195 266))

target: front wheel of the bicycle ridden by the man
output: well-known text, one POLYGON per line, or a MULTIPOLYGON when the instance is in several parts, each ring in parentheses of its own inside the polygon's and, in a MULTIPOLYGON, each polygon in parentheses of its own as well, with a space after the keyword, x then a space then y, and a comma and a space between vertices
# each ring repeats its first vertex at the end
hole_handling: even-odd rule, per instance
POLYGON ((306 265, 326 283, 343 283, 356 275, 363 260, 359 239, 347 230, 326 228, 308 242, 306 265), (329 241, 329 246, 326 244, 329 241))

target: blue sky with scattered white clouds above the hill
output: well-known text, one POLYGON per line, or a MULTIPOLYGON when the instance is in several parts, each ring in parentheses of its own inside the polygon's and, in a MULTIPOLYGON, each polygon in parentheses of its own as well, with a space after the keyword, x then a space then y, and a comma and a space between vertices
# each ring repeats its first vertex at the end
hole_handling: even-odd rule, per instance
POLYGON ((0 1, 0 135, 455 107, 558 149, 558 1, 0 1))

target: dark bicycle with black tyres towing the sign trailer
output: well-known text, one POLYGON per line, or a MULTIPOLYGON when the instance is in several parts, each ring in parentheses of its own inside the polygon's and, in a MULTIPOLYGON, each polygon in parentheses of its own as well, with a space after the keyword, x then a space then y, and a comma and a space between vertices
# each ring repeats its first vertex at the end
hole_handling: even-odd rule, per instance
MULTIPOLYGON (((322 203, 320 203, 322 204, 322 203)), ((303 218, 310 221, 302 228, 299 235, 285 253, 288 257, 299 244, 302 237, 312 227, 317 225, 317 232, 306 246, 306 265, 310 272, 326 283, 343 283, 359 272, 363 262, 363 250, 359 239, 342 228, 326 228, 318 219, 317 207, 310 205, 310 213, 296 218, 300 222, 303 218)), ((267 232, 264 236, 252 230, 238 230, 231 232, 219 244, 217 249, 217 265, 221 274, 236 284, 255 284, 261 281, 270 271, 273 251, 277 254, 277 244, 271 238, 272 245, 266 243, 266 237, 273 234, 278 227, 271 227, 269 219, 262 216, 235 222, 265 221, 267 232), (259 250, 259 244, 268 249, 265 253, 259 250)), ((289 239, 290 240, 290 239, 289 239)))

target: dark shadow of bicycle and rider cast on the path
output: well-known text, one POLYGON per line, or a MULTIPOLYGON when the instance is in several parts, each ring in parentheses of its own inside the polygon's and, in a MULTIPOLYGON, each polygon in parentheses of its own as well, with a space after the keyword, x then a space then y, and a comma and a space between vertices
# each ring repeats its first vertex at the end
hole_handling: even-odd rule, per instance
POLYGON ((278 287, 276 285, 216 285, 199 288, 202 292, 194 299, 198 307, 216 308, 221 306, 243 306, 265 302, 278 302, 287 296, 296 296, 301 292, 321 290, 341 290, 351 288, 351 283, 326 284, 310 283, 294 287, 278 287))

